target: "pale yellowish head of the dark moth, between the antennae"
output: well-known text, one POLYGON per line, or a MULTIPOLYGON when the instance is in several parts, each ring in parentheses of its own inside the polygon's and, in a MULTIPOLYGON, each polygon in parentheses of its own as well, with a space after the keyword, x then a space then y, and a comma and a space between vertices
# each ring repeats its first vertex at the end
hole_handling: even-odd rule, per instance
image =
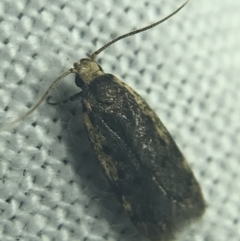
POLYGON ((97 76, 104 75, 102 68, 97 62, 91 59, 80 59, 79 63, 74 63, 74 69, 79 74, 84 83, 88 84, 97 76))

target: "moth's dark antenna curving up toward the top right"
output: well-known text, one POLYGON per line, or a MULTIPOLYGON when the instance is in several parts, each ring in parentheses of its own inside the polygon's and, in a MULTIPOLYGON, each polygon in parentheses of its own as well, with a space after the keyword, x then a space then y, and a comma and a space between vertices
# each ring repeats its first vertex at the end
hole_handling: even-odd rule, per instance
POLYGON ((167 17, 155 22, 155 23, 152 23, 144 28, 140 28, 140 29, 137 29, 137 30, 134 30, 130 33, 126 33, 126 34, 123 34, 115 39, 113 39, 112 41, 108 42, 107 44, 105 44, 104 46, 102 46, 100 49, 98 49, 97 51, 95 51, 92 55, 91 55, 91 60, 95 61, 96 58, 97 58, 97 55, 99 55, 103 50, 105 50, 106 48, 108 48, 109 46, 111 46, 112 44, 116 43, 117 41, 123 39, 123 38, 127 38, 129 36, 132 36, 132 35, 135 35, 135 34, 138 34, 138 33, 141 33, 141 32, 144 32, 150 28, 154 28, 155 26, 165 22, 167 19, 171 18, 173 15, 175 15, 176 13, 178 13, 182 8, 185 7, 185 5, 189 2, 190 0, 187 0, 183 5, 181 5, 177 10, 175 10, 174 12, 172 12, 171 14, 169 14, 167 17))

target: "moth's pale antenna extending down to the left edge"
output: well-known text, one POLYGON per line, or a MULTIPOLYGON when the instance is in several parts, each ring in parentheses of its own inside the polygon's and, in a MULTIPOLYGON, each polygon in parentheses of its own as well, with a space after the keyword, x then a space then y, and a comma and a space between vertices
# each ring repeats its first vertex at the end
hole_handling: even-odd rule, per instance
POLYGON ((63 79, 64 77, 66 77, 67 75, 71 74, 71 73, 76 73, 76 70, 74 68, 69 69, 68 71, 66 71, 65 73, 63 73, 61 76, 59 76, 57 79, 55 79, 53 81, 53 83, 48 87, 47 91, 43 94, 43 96, 41 97, 41 99, 37 102, 36 105, 34 105, 27 113, 19 116, 17 119, 15 119, 14 121, 4 125, 3 127, 0 128, 0 131, 6 131, 11 129, 16 123, 18 123, 19 121, 25 119, 27 116, 29 116, 34 110, 36 110, 38 108, 39 105, 42 104, 42 102, 47 98, 47 96, 49 95, 49 93, 51 92, 51 90, 56 86, 56 84, 63 79))

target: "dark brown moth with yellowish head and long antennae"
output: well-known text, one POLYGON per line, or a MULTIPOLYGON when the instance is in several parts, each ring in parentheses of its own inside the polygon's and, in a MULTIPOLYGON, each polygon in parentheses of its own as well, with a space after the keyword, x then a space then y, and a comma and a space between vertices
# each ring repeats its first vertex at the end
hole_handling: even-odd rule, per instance
POLYGON ((113 43, 148 30, 164 19, 124 34, 81 59, 58 77, 40 101, 7 129, 30 115, 52 88, 70 73, 81 92, 84 124, 94 152, 113 191, 139 231, 152 241, 172 240, 191 221, 200 218, 205 202, 185 157, 159 117, 126 83, 105 74, 97 55, 113 43))

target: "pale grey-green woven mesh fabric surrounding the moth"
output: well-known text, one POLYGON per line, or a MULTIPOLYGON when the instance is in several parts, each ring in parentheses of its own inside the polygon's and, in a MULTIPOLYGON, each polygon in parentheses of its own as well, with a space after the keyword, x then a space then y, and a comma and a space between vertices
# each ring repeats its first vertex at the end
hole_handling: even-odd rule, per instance
MULTIPOLYGON (((26 112, 73 62, 183 1, 1 0, 0 122, 26 112)), ((158 113, 205 196, 178 240, 240 240, 240 2, 191 1, 161 26, 99 56, 158 113)), ((77 93, 74 76, 52 92, 77 93)), ((0 133, 0 239, 145 240, 94 159, 80 101, 46 103, 0 133)))

